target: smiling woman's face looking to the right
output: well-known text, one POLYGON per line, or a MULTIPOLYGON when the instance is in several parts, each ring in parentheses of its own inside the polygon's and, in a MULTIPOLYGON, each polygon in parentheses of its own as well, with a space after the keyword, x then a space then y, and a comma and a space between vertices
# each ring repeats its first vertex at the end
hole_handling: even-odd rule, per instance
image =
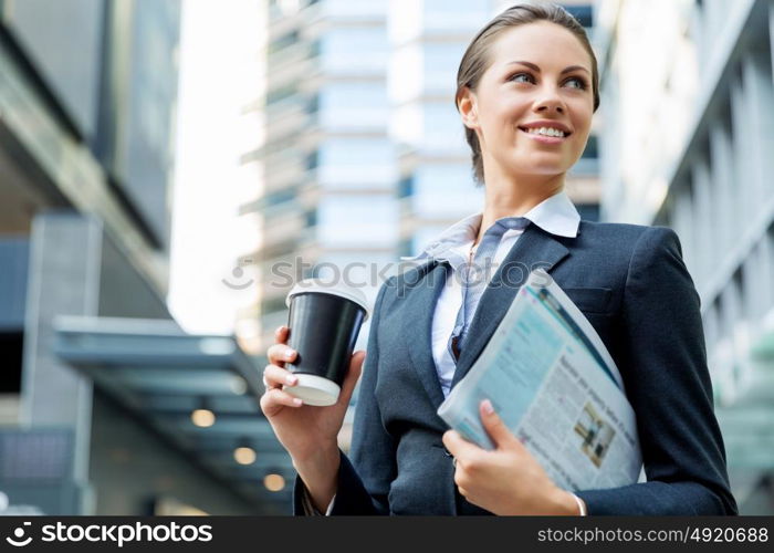
POLYGON ((489 61, 477 91, 466 90, 459 104, 487 174, 566 173, 586 147, 594 113, 586 50, 568 30, 541 21, 503 31, 489 61))

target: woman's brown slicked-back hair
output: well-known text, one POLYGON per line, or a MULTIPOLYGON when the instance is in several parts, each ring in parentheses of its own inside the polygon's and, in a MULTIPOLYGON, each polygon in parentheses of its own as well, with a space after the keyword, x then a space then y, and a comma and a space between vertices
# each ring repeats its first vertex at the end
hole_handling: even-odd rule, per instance
MULTIPOLYGON (((457 94, 454 95, 454 104, 459 111, 459 97, 464 87, 475 92, 481 76, 489 69, 492 61, 490 60, 490 50, 495 40, 513 27, 534 23, 537 21, 548 21, 556 23, 569 32, 572 32, 580 42, 580 45, 588 52, 592 59, 592 90, 594 92, 594 111, 599 107, 599 70, 597 67, 597 59, 594 55, 594 50, 586 35, 586 30, 578 21, 567 12, 564 8, 556 4, 517 4, 503 11, 492 19, 483 29, 479 31, 475 38, 471 41, 468 50, 462 55, 460 67, 457 71, 457 94)), ((481 157, 481 145, 475 131, 464 128, 466 140, 470 146, 471 158, 473 163, 473 177, 478 186, 484 184, 483 159, 481 157)))

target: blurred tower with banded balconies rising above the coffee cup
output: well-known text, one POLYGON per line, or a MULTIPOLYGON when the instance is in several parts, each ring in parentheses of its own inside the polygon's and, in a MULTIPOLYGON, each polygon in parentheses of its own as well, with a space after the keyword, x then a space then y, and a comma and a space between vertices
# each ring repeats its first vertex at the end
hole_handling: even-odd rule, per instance
MULTIPOLYGON (((245 314, 260 317, 259 351, 286 324, 285 295, 296 280, 336 278, 349 264, 346 278, 367 284, 366 265, 389 262, 397 244, 388 2, 264 6, 265 91, 252 107, 264 114, 263 140, 242 157, 259 167, 257 197, 242 208, 261 227, 252 257, 263 285, 245 314)), ((375 299, 375 286, 365 292, 375 299)))

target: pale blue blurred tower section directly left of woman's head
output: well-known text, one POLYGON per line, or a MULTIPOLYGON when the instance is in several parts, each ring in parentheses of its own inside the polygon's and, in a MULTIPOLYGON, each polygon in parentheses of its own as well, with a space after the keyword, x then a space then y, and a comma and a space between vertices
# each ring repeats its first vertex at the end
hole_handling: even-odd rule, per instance
POLYGON ((400 255, 415 255, 483 206, 454 108, 457 69, 493 1, 390 2, 391 136, 397 145, 400 255))

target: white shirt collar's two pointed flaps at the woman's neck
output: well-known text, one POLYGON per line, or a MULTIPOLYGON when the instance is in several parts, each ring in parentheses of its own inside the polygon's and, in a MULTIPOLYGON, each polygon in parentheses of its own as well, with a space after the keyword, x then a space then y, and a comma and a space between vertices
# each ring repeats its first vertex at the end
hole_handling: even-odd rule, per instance
MULTIPOLYGON (((530 219, 546 232, 559 237, 575 238, 580 226, 580 215, 564 190, 544 199, 522 217, 530 219)), ((482 218, 481 211, 466 217, 441 232, 418 255, 401 257, 401 261, 439 257, 451 248, 472 241, 479 231, 482 218)))

